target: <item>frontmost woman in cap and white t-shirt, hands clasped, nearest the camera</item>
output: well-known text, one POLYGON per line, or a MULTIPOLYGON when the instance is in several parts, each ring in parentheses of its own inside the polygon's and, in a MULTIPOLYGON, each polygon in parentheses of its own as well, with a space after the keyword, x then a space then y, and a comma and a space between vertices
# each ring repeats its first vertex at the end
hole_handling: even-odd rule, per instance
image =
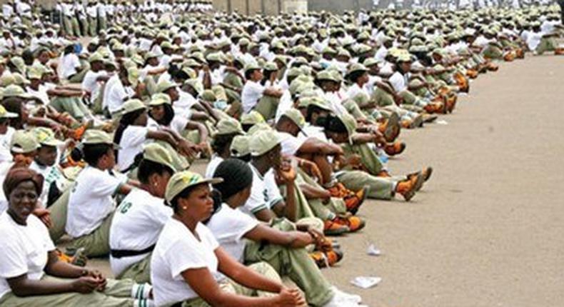
POLYGON ((204 179, 190 171, 176 173, 168 181, 165 197, 174 214, 166 222, 151 258, 156 306, 186 301, 211 306, 303 305, 305 301, 297 289, 285 288, 243 266, 219 246, 201 223, 213 211, 209 183, 219 182, 217 178, 204 179), (261 298, 236 294, 233 283, 222 280, 218 273, 246 288, 279 294, 261 298))

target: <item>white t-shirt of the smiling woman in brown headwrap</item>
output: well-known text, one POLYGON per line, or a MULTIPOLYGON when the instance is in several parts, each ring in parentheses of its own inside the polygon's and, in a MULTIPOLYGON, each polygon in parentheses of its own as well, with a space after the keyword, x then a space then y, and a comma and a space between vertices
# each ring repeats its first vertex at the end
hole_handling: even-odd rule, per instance
POLYGON ((27 274, 39 281, 43 277, 49 251, 55 246, 44 223, 33 214, 27 226, 16 223, 9 214, 0 213, 0 298, 11 292, 6 279, 27 274))

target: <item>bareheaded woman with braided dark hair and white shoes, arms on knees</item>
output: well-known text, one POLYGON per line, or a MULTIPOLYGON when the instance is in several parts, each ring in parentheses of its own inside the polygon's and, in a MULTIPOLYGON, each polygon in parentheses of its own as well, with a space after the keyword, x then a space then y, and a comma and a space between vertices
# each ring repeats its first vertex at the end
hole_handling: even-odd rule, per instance
POLYGON ((360 303, 360 296, 332 287, 308 256, 306 246, 325 242, 321 233, 311 228, 296 231, 291 223, 267 226, 239 211, 251 195, 253 171, 247 163, 236 158, 226 159, 216 168, 213 177, 224 180, 213 185, 221 193, 223 203, 216 208, 206 226, 227 253, 241 263, 266 261, 281 276, 291 278, 313 306, 355 306, 360 303))

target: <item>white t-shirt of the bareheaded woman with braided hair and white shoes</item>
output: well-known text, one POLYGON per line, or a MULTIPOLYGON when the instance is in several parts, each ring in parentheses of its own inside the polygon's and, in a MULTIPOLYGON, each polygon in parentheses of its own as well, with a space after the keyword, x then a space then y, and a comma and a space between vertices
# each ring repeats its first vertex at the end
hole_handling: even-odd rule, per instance
POLYGON ((207 225, 219 245, 233 258, 243 263, 245 241, 243 236, 258 226, 258 221, 251 216, 222 203, 219 210, 211 216, 207 225))

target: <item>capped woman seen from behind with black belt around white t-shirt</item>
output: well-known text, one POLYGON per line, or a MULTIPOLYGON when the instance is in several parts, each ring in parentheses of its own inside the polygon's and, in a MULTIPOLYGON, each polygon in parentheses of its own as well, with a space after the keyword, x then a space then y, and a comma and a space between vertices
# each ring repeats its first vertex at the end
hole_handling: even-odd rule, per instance
POLYGON ((166 184, 175 171, 170 153, 158 144, 143 150, 134 188, 116 209, 110 228, 110 265, 116 278, 150 281, 149 263, 158 235, 172 216, 165 206, 166 184))

